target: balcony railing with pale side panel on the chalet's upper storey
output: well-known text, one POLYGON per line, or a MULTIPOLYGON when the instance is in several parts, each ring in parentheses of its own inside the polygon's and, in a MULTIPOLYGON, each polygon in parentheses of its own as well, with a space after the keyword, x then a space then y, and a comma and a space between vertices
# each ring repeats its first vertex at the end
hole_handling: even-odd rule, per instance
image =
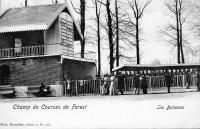
MULTIPOLYGON (((40 55, 65 55, 80 58, 80 54, 74 54, 72 50, 62 44, 48 44, 0 49, 1 59, 40 55)), ((93 52, 85 54, 85 59, 95 60, 95 58, 95 53, 93 52)))

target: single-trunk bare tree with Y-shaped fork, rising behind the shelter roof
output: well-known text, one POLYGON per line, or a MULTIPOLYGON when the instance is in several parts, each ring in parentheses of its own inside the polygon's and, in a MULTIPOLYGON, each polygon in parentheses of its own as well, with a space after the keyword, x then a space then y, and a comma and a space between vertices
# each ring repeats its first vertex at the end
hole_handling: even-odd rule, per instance
POLYGON ((136 56, 137 64, 140 64, 140 20, 144 15, 145 8, 151 3, 152 0, 147 0, 142 4, 141 0, 128 1, 135 19, 135 40, 136 40, 136 56))

